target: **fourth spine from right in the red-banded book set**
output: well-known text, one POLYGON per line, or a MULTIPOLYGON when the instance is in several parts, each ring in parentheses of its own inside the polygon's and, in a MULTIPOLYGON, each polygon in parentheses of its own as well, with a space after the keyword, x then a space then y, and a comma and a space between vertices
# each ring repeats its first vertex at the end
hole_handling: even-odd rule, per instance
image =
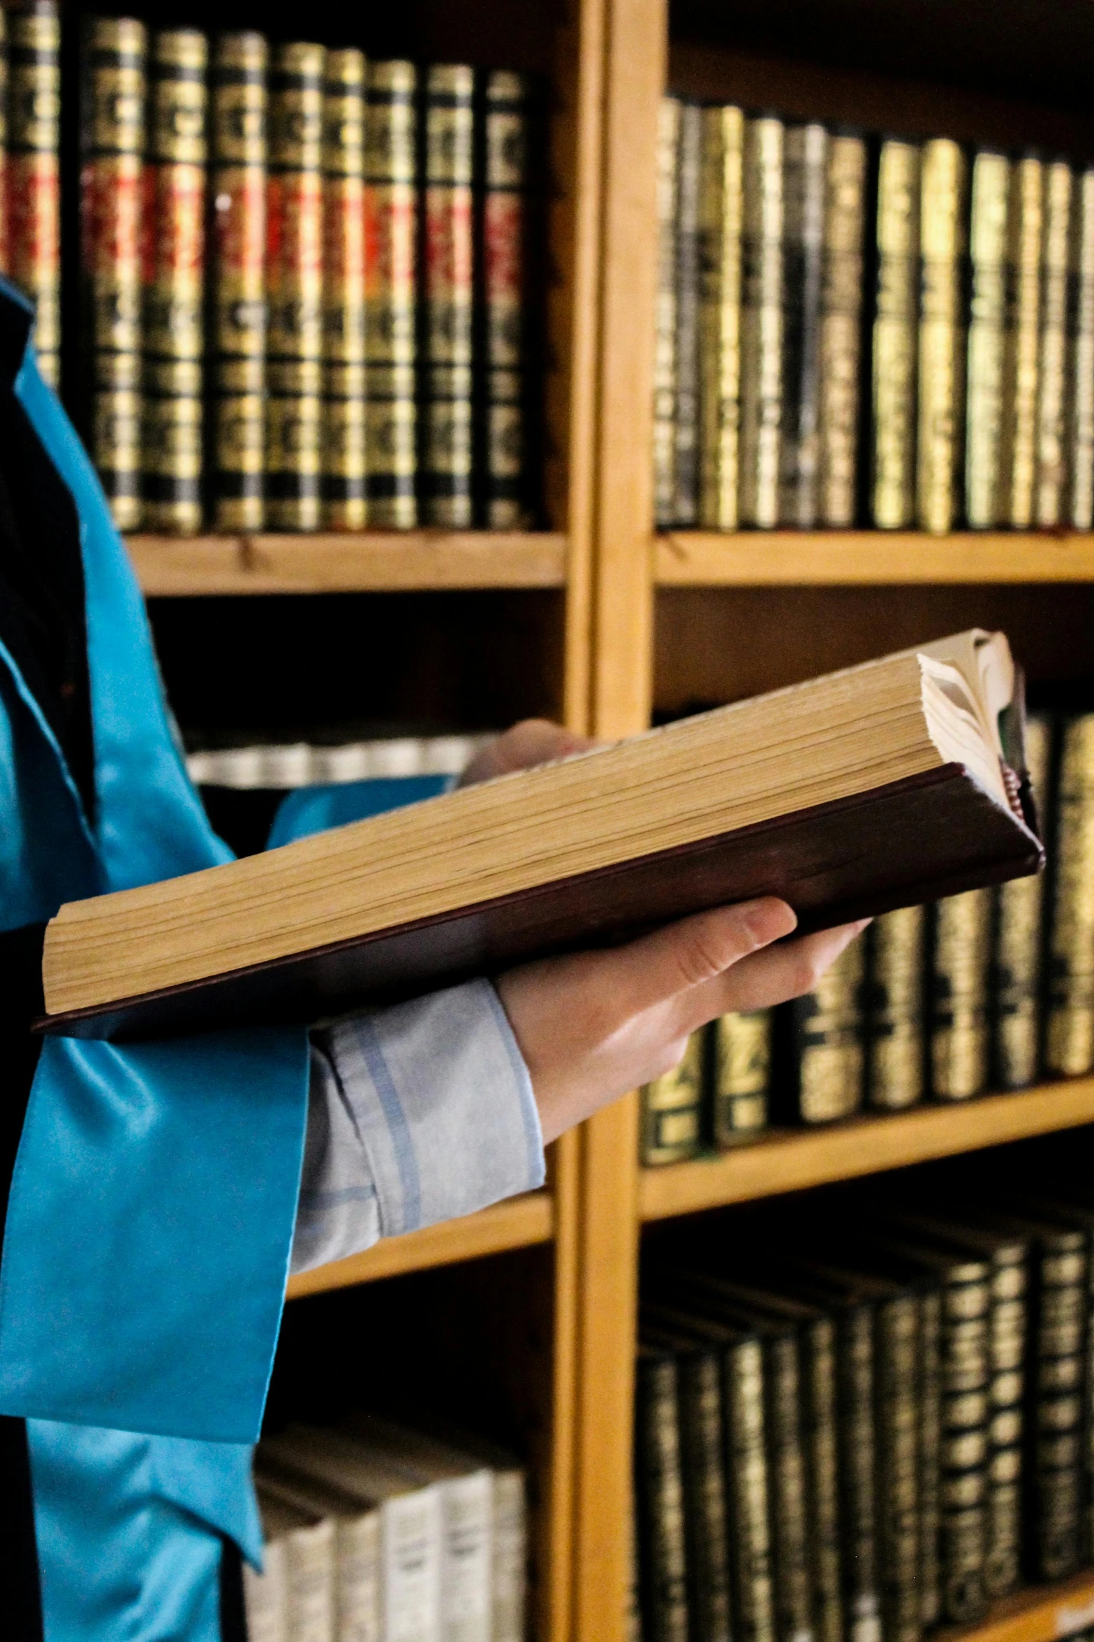
POLYGON ((328 51, 323 80, 325 530, 362 530, 364 499, 364 56, 328 51))

